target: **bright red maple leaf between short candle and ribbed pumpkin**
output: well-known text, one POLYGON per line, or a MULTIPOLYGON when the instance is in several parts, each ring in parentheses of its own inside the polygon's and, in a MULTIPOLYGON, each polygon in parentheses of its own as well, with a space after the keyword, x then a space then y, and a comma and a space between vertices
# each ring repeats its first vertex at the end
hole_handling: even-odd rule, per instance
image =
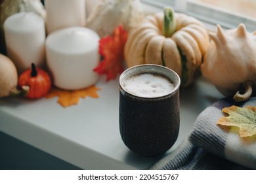
POLYGON ((93 71, 100 75, 107 75, 107 81, 115 79, 124 70, 123 49, 127 35, 127 31, 119 25, 112 36, 108 35, 99 41, 99 53, 103 59, 93 71))

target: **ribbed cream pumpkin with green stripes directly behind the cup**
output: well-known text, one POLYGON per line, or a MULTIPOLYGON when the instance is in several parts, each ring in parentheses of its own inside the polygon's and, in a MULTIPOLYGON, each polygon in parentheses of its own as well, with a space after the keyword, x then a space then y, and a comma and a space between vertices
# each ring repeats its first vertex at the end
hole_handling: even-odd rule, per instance
POLYGON ((202 22, 167 7, 129 31, 124 56, 127 67, 144 63, 169 67, 181 77, 182 86, 188 86, 200 73, 208 44, 202 22))

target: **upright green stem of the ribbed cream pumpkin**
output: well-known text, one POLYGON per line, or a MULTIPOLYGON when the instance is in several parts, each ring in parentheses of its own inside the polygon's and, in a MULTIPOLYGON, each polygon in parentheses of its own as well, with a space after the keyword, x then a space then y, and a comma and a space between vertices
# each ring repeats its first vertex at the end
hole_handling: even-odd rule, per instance
POLYGON ((171 37, 176 29, 175 12, 171 7, 165 7, 163 9, 163 35, 165 37, 171 37))

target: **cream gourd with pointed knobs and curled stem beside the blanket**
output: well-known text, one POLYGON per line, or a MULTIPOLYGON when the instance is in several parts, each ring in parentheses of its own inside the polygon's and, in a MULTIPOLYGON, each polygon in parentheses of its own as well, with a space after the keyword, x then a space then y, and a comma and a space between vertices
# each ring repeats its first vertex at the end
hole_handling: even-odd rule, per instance
POLYGON ((244 24, 210 33, 211 42, 203 58, 202 75, 225 96, 245 101, 256 93, 256 31, 248 33, 244 24), (244 90, 244 92, 240 92, 244 90))

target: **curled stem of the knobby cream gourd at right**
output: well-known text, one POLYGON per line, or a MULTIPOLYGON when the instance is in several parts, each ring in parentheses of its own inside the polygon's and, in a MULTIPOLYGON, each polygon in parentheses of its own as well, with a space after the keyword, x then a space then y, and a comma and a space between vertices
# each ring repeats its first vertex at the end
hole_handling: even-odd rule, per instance
POLYGON ((242 84, 244 88, 244 93, 240 93, 240 91, 236 92, 233 99, 236 102, 247 101, 251 97, 251 93, 253 92, 253 82, 248 80, 242 84))

